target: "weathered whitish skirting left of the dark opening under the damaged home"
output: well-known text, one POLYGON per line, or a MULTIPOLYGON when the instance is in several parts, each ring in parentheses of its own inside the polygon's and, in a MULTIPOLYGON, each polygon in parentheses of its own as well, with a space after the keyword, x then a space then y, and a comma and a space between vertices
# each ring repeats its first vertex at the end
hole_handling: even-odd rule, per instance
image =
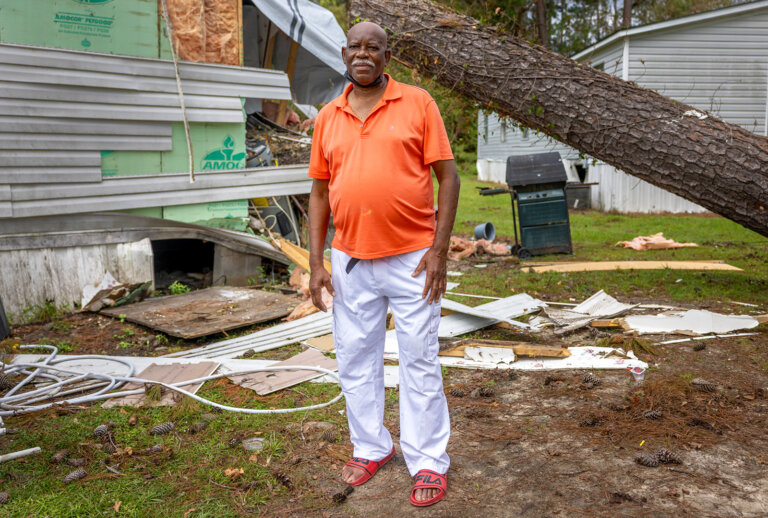
POLYGON ((45 300, 57 305, 78 302, 83 286, 110 272, 120 282, 154 281, 152 244, 97 245, 0 252, 0 288, 8 313, 45 300), (46 282, 40 282, 40 279, 46 282))

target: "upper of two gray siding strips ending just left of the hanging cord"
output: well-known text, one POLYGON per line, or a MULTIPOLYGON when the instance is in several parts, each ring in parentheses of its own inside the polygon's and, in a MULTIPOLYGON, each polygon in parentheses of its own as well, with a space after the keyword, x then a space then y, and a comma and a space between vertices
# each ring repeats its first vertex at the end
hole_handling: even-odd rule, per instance
POLYGON ((103 135, 143 135, 170 137, 173 129, 165 122, 126 122, 52 117, 0 116, 0 128, 17 133, 66 133, 103 135))

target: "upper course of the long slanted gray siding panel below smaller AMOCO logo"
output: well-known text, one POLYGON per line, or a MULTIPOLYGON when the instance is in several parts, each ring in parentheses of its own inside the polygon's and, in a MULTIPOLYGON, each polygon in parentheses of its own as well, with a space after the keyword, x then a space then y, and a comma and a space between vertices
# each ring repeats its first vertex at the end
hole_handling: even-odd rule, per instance
MULTIPOLYGON (((221 187, 238 189, 248 186, 273 185, 286 182, 294 183, 303 180, 309 181, 307 166, 292 165, 256 168, 239 172, 197 172, 195 174, 195 183, 189 182, 189 176, 186 173, 176 173, 105 178, 102 182, 93 185, 50 184, 16 186, 12 189, 12 192, 15 201, 35 201, 54 198, 74 199, 132 194, 147 196, 158 194, 165 196, 166 193, 171 191, 191 193, 221 187)), ((247 196, 235 196, 230 199, 239 200, 244 197, 247 196)), ((160 203, 157 206, 161 205, 164 204, 160 203)), ((109 208, 107 206, 97 210, 108 210, 109 208)))

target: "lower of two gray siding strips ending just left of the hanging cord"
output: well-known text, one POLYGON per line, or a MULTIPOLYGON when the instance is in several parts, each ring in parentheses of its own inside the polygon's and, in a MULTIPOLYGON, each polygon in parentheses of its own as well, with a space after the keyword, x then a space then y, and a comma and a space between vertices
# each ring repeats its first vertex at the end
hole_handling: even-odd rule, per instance
POLYGON ((173 143, 171 137, 140 137, 137 135, 0 133, 0 149, 170 151, 173 149, 173 143))

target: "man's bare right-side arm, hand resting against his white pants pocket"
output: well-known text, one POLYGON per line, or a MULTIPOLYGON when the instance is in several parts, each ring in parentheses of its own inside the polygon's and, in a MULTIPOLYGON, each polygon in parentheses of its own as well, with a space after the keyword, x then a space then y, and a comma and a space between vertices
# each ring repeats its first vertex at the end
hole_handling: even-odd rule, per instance
POLYGON ((419 275, 422 270, 427 270, 427 280, 424 283, 424 292, 421 297, 429 294, 429 304, 437 302, 445 293, 446 287, 446 261, 448 259, 448 246, 451 243, 451 231, 456 219, 456 207, 459 204, 459 188, 461 181, 456 172, 456 162, 453 160, 439 160, 432 164, 432 169, 437 177, 437 228, 432 247, 427 250, 419 262, 413 276, 419 275))

